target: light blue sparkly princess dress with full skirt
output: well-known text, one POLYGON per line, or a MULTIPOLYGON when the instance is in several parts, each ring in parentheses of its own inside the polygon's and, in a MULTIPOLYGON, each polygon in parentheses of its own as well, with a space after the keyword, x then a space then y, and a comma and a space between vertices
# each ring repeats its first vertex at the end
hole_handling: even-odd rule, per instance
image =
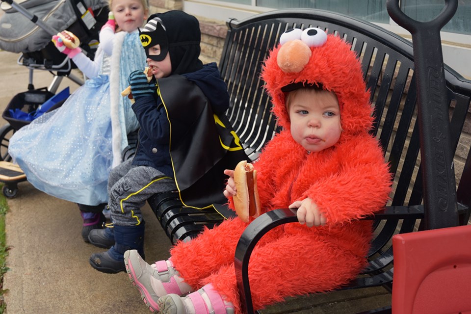
MULTIPOLYGON (((121 37, 117 60, 102 51, 101 58, 97 58, 97 77, 87 79, 61 107, 33 120, 11 137, 8 152, 37 189, 79 204, 107 203, 116 133, 112 131, 110 113, 110 78, 113 70, 119 71, 119 75, 114 75, 118 81, 114 86, 120 88, 115 93, 119 94, 126 88, 129 74, 146 65, 138 35, 121 37), (113 61, 119 64, 112 64, 113 61)), ((118 147, 122 147, 127 145, 126 133, 136 130, 138 123, 129 101, 121 96, 114 98, 116 106, 120 106, 115 120, 122 123, 115 126, 120 129, 118 147)))

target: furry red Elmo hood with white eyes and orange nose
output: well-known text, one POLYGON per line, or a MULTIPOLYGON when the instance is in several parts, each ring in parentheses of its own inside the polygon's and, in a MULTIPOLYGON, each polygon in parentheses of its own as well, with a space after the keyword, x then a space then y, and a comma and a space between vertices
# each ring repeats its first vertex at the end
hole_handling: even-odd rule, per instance
POLYGON ((339 143, 372 127, 370 95, 360 62, 338 36, 314 27, 286 31, 265 60, 262 78, 278 124, 285 130, 290 128, 285 92, 303 84, 322 86, 337 95, 343 129, 339 143))

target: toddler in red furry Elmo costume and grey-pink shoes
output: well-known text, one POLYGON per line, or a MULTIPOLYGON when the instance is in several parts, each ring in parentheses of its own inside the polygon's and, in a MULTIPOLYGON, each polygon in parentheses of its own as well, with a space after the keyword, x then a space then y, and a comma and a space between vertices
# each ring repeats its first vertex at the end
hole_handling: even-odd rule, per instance
MULTIPOLYGON (((273 229, 255 247, 255 309, 354 278, 371 239, 371 221, 359 218, 381 209, 391 190, 382 149, 368 133, 369 93, 349 44, 318 28, 291 29, 270 52, 262 78, 283 127, 254 163, 262 211, 298 208, 300 223, 273 229)), ((233 208, 234 172, 225 173, 233 208)), ((246 226, 226 220, 152 265, 127 251, 127 272, 146 306, 154 313, 241 313, 234 254, 246 226)))

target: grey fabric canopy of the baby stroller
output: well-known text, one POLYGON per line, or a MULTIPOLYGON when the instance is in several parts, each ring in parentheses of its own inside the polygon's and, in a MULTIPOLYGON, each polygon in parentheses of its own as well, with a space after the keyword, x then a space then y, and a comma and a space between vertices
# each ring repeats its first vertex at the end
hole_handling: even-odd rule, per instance
MULTIPOLYGON (((17 2, 18 3, 18 2, 17 2)), ((108 5, 107 0, 25 0, 21 6, 57 31, 71 26, 86 9, 97 10, 108 5), (78 12, 74 7, 78 7, 78 12)), ((51 34, 31 22, 5 2, 0 17, 0 49, 9 52, 40 51, 51 41, 51 34)))

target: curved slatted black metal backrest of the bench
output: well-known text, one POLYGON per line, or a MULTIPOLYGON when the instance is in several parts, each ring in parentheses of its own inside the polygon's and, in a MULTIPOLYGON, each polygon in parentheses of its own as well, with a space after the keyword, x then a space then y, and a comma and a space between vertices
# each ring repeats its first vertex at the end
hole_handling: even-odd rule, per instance
MULTIPOLYGON (((252 160, 277 131, 270 100, 260 78, 262 62, 280 35, 292 27, 319 27, 352 44, 361 58, 374 105, 374 129, 391 165, 396 185, 392 204, 419 205, 422 200, 416 86, 410 42, 385 29, 322 10, 290 9, 227 23, 219 63, 231 95, 227 115, 252 160)), ((451 118, 452 149, 456 150, 470 105, 470 81, 445 67, 451 118)))

